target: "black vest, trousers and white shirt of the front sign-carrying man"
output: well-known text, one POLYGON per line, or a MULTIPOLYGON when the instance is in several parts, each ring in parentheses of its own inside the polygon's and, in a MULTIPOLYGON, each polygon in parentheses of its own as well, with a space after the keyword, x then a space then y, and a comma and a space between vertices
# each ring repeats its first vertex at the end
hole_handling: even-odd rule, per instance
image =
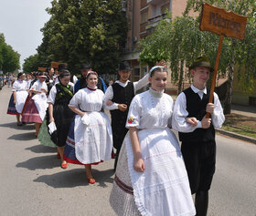
POLYGON ((179 131, 182 142, 181 150, 187 167, 192 193, 210 189, 216 162, 215 128, 220 128, 225 117, 219 97, 214 93, 214 113, 208 129, 202 129, 198 122, 192 127, 186 118, 195 117, 201 121, 206 115, 209 90, 199 90, 193 85, 183 91, 177 98, 174 108, 173 128, 179 131))

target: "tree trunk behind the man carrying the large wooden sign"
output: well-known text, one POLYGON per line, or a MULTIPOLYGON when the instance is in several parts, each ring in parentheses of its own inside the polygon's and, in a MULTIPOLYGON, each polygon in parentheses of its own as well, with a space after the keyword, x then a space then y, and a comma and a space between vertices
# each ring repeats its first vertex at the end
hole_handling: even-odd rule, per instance
POLYGON ((229 64, 229 82, 228 82, 228 89, 227 95, 224 100, 224 114, 231 113, 231 102, 232 102, 232 91, 233 91, 233 81, 234 81, 234 69, 235 69, 235 59, 232 57, 231 62, 229 64))

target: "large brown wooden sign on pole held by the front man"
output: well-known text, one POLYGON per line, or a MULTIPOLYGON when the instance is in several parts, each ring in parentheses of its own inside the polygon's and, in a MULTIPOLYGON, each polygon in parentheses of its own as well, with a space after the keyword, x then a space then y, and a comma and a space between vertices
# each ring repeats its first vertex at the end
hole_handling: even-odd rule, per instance
MULTIPOLYGON (((223 8, 215 7, 205 3, 202 9, 200 30, 209 31, 219 35, 219 47, 214 67, 214 75, 210 88, 209 103, 212 103, 213 92, 216 86, 217 71, 219 68, 219 57, 221 53, 222 41, 224 36, 236 37, 243 40, 245 36, 245 28, 247 24, 247 17, 244 15, 237 15, 233 12, 227 12, 223 8)), ((207 113, 209 118, 209 113, 207 113)))

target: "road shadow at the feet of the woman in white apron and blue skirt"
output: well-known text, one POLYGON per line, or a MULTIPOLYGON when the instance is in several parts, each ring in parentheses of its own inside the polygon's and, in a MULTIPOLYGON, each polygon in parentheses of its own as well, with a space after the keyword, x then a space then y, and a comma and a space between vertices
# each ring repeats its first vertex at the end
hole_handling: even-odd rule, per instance
MULTIPOLYGON (((95 186, 98 187, 108 187, 106 182, 112 183, 113 181, 113 170, 92 169, 92 175, 96 180, 95 186)), ((52 188, 75 188, 89 185, 84 169, 63 170, 52 175, 40 176, 34 181, 46 183, 52 188)))

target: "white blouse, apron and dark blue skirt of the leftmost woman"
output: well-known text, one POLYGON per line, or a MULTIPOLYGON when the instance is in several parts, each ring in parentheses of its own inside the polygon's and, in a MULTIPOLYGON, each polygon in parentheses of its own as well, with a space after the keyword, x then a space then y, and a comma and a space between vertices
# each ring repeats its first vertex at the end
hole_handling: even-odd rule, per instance
POLYGON ((17 79, 12 87, 12 92, 16 92, 16 104, 14 104, 14 96, 12 94, 7 110, 7 114, 21 114, 27 98, 27 82, 17 79))

